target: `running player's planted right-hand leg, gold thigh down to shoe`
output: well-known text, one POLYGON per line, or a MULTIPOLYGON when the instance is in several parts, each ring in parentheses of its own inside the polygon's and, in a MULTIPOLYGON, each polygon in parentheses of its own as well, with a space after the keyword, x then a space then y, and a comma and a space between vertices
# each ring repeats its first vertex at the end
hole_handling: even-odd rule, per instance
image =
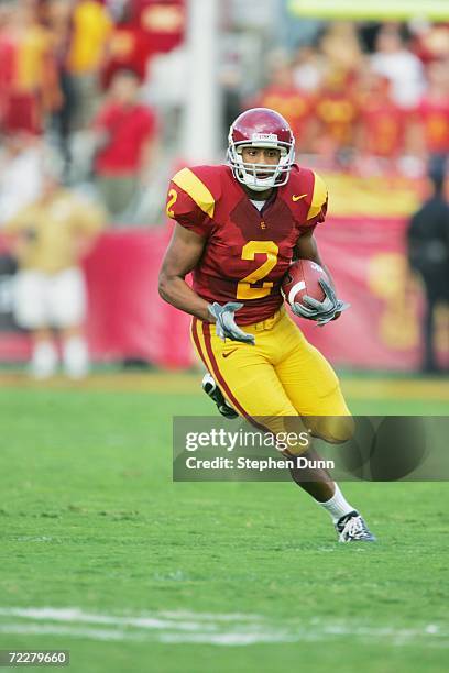
MULTIPOLYGON (((306 426, 313 429, 314 435, 331 443, 350 439, 353 421, 330 364, 288 317, 280 322, 276 336, 284 346, 283 356, 275 367, 276 374, 306 426)), ((310 460, 319 457, 314 449, 304 456, 310 460)), ((340 541, 374 540, 363 518, 325 470, 293 468, 292 477, 328 511, 340 541)))

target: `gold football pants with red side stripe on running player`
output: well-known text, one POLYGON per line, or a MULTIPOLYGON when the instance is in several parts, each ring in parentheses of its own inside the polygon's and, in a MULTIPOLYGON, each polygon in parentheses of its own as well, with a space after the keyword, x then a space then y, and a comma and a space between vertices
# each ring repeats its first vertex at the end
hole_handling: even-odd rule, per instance
POLYGON ((215 324, 197 318, 191 323, 195 347, 234 409, 250 421, 262 417, 275 433, 288 429, 285 417, 307 417, 315 437, 347 440, 352 419, 336 373, 285 308, 242 329, 254 334, 254 345, 223 342, 215 324))

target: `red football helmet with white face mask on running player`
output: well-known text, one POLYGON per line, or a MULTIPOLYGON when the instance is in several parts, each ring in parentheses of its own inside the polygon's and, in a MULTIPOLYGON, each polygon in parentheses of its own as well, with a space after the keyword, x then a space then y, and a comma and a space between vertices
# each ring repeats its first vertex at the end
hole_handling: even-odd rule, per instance
POLYGON ((295 162, 295 137, 282 114, 269 108, 247 110, 231 125, 228 140, 228 163, 239 183, 254 191, 264 191, 287 183, 295 162), (277 165, 244 163, 243 147, 281 150, 280 161, 277 165), (264 177, 258 177, 261 173, 264 177))

